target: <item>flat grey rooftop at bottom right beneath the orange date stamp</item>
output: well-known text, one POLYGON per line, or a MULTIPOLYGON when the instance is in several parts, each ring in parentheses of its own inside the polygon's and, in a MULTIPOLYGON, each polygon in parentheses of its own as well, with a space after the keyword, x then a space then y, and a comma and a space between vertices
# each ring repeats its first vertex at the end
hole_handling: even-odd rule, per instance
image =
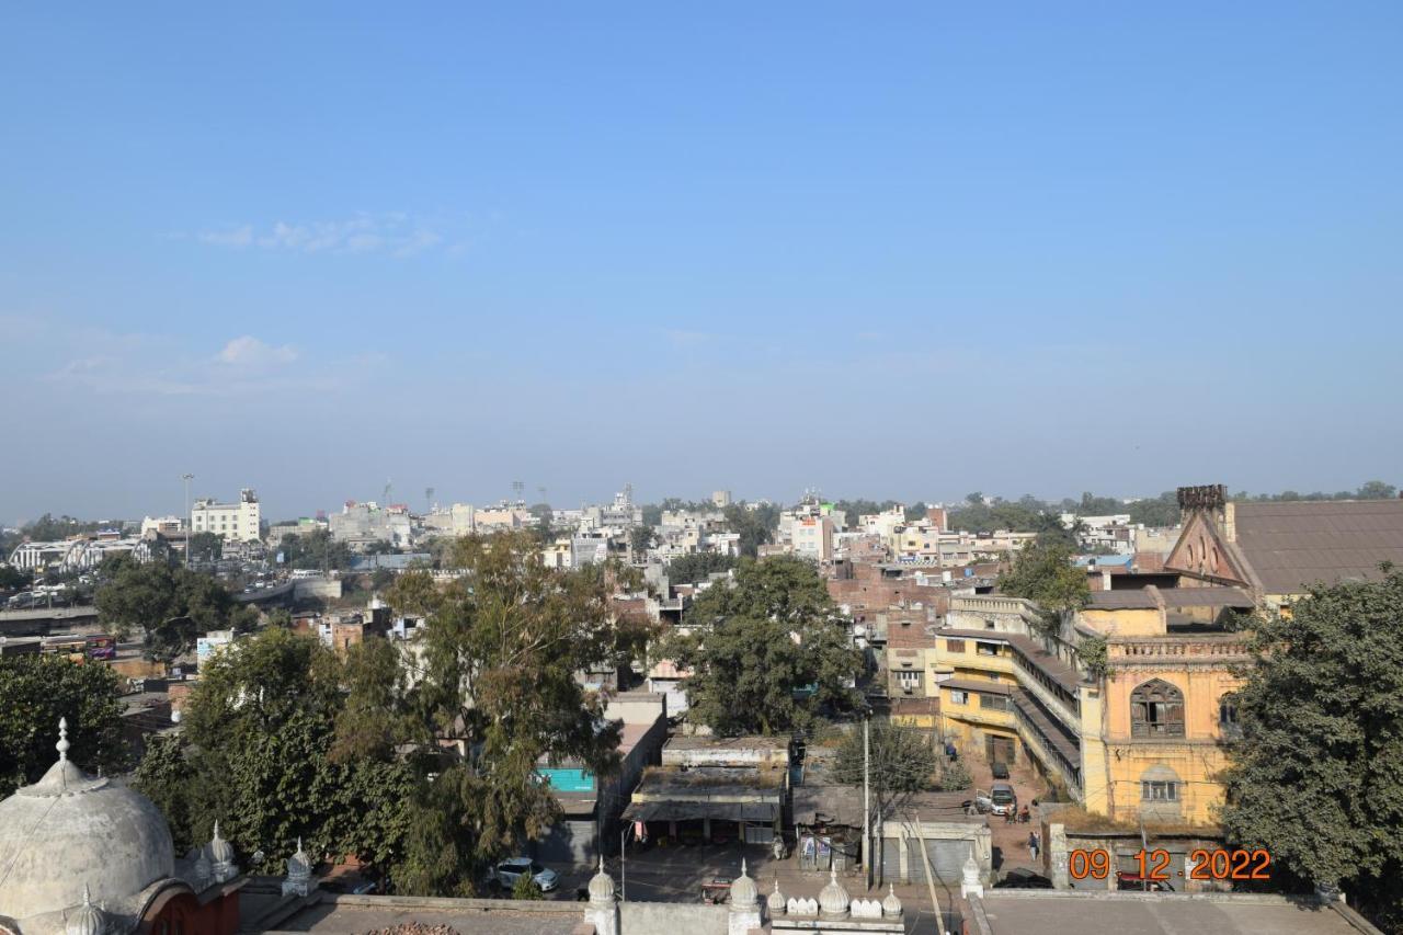
POLYGON ((992 935, 1034 932, 1037 935, 1162 935, 1163 932, 1360 935, 1361 932, 1333 908, 1273 896, 1200 897, 1172 893, 985 890, 981 903, 992 935))

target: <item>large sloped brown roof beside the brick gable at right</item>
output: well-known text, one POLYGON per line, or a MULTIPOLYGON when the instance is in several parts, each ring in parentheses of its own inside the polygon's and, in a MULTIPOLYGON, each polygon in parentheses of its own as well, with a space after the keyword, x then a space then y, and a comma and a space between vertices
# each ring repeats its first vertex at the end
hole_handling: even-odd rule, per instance
POLYGON ((1403 567, 1403 500, 1240 503, 1236 526, 1267 594, 1378 578, 1385 560, 1403 567))

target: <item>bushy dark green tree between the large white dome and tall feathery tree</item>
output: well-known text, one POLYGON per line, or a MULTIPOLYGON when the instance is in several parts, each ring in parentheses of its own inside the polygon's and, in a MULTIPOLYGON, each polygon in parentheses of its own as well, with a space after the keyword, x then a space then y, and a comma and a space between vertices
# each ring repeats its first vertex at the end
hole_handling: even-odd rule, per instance
MULTIPOLYGON (((363 646, 376 643, 389 646, 363 646)), ((241 854, 261 849, 276 865, 302 837, 313 854, 352 854, 383 875, 403 847, 415 776, 387 750, 333 755, 345 681, 318 640, 276 628, 206 663, 182 734, 149 747, 136 774, 177 848, 208 841, 217 818, 241 854)))

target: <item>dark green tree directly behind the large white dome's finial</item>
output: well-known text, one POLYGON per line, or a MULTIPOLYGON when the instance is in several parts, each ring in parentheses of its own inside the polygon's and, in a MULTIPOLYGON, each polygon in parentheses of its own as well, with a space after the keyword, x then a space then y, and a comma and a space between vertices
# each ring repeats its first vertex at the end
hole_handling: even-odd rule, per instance
POLYGON ((60 717, 69 724, 69 760, 90 772, 128 768, 111 668, 60 656, 0 657, 0 799, 36 782, 58 760, 60 717))

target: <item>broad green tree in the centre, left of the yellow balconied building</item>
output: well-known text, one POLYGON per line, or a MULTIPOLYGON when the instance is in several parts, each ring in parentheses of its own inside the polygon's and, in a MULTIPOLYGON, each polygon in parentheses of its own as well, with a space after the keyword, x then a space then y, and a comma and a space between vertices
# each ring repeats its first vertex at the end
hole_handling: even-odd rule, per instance
POLYGON ((704 591, 686 622, 662 651, 693 671, 689 716, 718 734, 783 733, 860 703, 861 654, 810 562, 742 560, 734 584, 704 591))

